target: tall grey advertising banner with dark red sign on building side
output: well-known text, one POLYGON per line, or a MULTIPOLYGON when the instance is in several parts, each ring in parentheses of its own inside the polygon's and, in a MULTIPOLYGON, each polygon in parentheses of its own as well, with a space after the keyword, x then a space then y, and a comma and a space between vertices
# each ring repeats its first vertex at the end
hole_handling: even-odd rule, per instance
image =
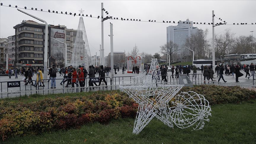
MULTIPOLYGON (((51 37, 59 41, 65 42, 65 31, 61 29, 51 28, 51 37)), ((56 65, 56 67, 65 66, 65 48, 63 43, 60 43, 54 39, 51 39, 51 57, 50 67, 56 65)))

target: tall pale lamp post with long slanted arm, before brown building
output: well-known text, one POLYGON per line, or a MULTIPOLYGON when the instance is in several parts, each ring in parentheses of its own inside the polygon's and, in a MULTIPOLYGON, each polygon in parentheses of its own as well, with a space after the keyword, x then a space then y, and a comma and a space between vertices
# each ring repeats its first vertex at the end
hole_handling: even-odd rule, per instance
POLYGON ((31 15, 31 14, 29 14, 29 13, 27 13, 27 12, 24 12, 24 11, 22 11, 22 10, 20 10, 20 9, 17 9, 18 11, 20 11, 20 12, 22 12, 22 13, 24 13, 24 14, 26 14, 26 15, 29 15, 29 16, 31 16, 31 17, 33 17, 33 18, 35 18, 35 19, 37 19, 37 20, 39 20, 39 21, 41 21, 41 22, 43 22, 43 23, 45 23, 45 40, 44 40, 44 78, 43 79, 47 79, 47 57, 48 57, 48 23, 45 21, 45 20, 42 20, 42 19, 40 19, 40 18, 38 18, 38 17, 35 17, 35 16, 33 16, 33 15, 31 15))

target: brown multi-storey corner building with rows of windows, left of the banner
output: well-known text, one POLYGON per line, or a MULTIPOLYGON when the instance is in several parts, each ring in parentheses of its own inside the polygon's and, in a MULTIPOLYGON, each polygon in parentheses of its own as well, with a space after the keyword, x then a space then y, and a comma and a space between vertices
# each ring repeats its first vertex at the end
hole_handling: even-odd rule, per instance
MULTIPOLYGON (((13 28, 15 29, 15 66, 19 68, 22 66, 43 68, 45 24, 33 20, 23 20, 22 23, 15 25, 13 28)), ((50 27, 48 28, 48 52, 49 31, 50 27)))

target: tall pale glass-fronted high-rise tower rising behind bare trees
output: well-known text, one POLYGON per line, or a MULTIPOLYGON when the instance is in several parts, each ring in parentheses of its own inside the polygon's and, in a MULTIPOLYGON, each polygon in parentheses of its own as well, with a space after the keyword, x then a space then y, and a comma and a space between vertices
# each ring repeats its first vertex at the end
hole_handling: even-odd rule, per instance
POLYGON ((198 31, 199 29, 197 27, 193 27, 193 21, 190 21, 189 19, 186 21, 179 21, 177 26, 167 27, 167 42, 172 41, 178 45, 176 54, 180 57, 181 55, 184 55, 184 51, 185 53, 188 53, 187 49, 184 48, 186 39, 198 31))

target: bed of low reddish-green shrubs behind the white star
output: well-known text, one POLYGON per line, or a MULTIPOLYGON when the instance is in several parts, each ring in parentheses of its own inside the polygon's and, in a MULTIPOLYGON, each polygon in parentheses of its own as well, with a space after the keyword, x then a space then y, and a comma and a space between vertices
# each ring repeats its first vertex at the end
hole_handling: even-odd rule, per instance
MULTIPOLYGON (((183 87, 180 92, 194 91, 204 95, 210 105, 238 103, 255 99, 256 92, 240 87, 201 85, 183 87)), ((57 97, 30 103, 0 101, 0 136, 39 134, 57 129, 80 127, 89 122, 106 124, 111 119, 132 117, 138 104, 119 91, 95 92, 83 97, 57 97)))

